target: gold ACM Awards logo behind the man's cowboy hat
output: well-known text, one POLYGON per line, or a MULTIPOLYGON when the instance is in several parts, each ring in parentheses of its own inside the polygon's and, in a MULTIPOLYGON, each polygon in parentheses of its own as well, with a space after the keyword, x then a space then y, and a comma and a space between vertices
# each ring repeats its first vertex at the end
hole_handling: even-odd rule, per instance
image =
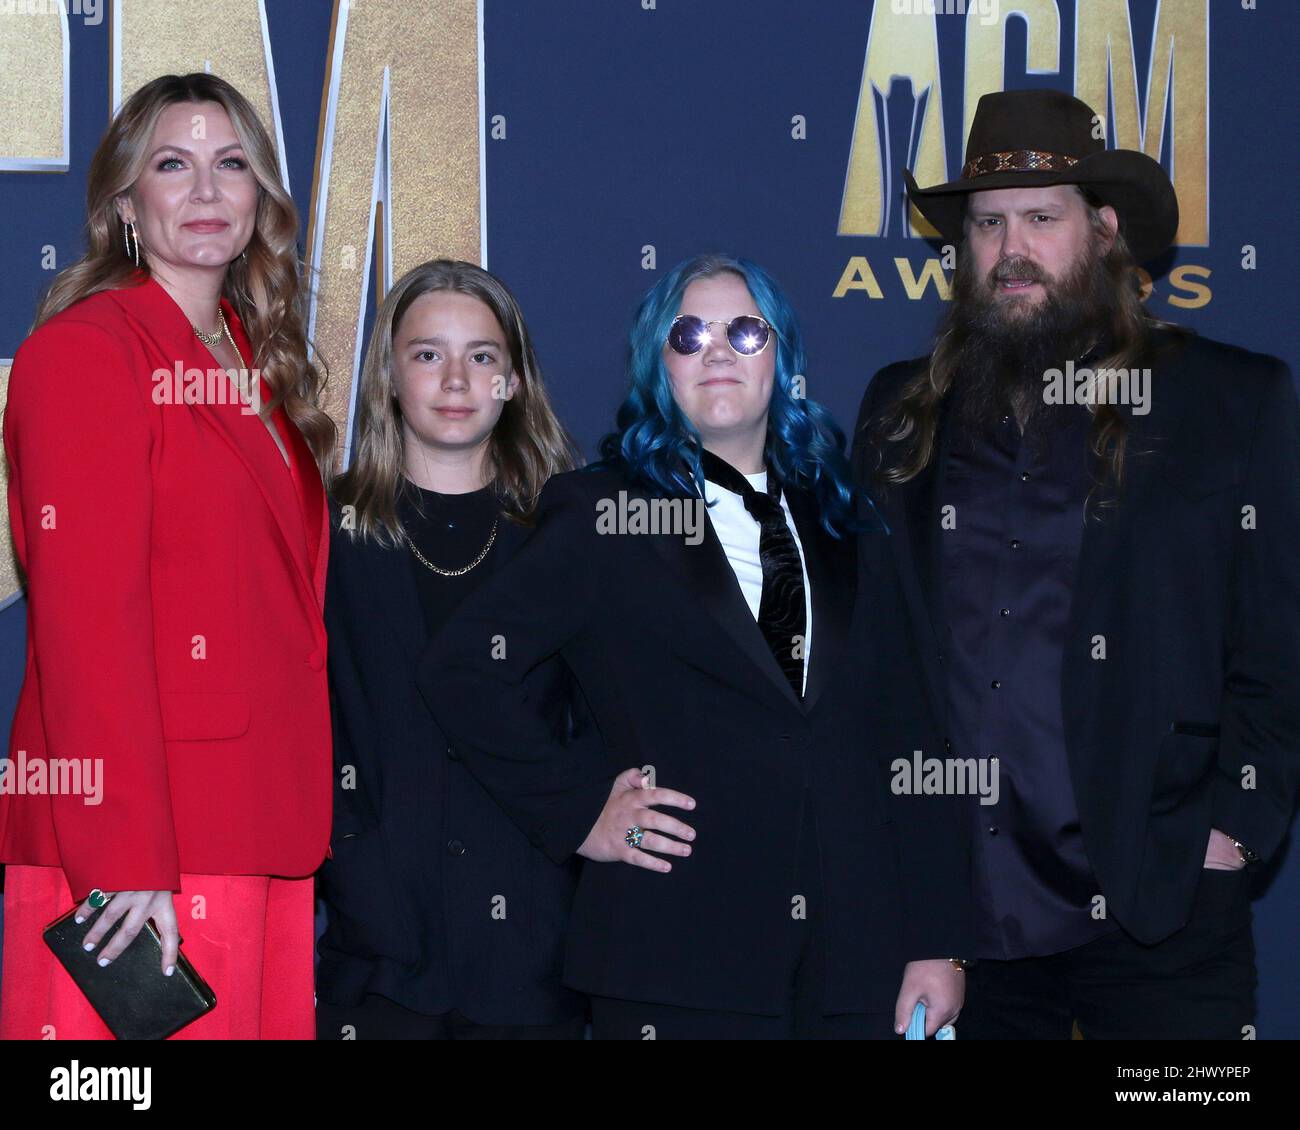
MULTIPOLYGON (((963 153, 980 96, 1005 88, 1010 20, 1024 23, 1026 73, 1063 72, 1062 47, 1071 44, 1062 43, 1061 7, 1061 0, 948 8, 880 0, 874 5, 837 234, 894 241, 906 235, 910 247, 930 250, 931 244, 919 241, 936 233, 906 204, 900 169, 913 168, 922 185, 950 179, 944 107, 953 99, 962 105, 958 152, 963 153), (942 26, 946 35, 958 20, 965 22, 965 81, 945 86, 949 75, 940 72, 939 34, 942 26), (907 134, 902 157, 889 146, 900 131, 907 134)), ((1173 170, 1182 213, 1176 242, 1204 247, 1209 243, 1209 3, 1162 0, 1148 12, 1153 49, 1148 73, 1140 77, 1132 34, 1138 13, 1130 10, 1128 0, 1080 0, 1071 92, 1097 112, 1098 137, 1112 124, 1108 144, 1140 150, 1173 170)), ((1013 68, 1019 64, 1011 61, 1013 68)), ((1067 88, 1066 82, 1061 88, 1067 88)), ((907 255, 890 260, 852 255, 832 296, 918 302, 933 289, 948 300, 954 267, 952 247, 942 256, 924 259, 919 270, 907 255)), ((1156 287, 1150 274, 1139 270, 1148 302, 1179 309, 1209 304, 1210 274, 1209 267, 1179 263, 1166 285, 1156 287)))

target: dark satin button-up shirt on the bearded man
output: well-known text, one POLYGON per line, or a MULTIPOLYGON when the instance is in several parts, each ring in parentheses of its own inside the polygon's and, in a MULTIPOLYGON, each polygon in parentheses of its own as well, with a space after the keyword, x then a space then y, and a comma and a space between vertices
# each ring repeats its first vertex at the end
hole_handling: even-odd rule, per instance
POLYGON ((975 809, 978 957, 1058 953, 1115 928, 1083 847, 1061 713, 1062 650, 1091 485, 1084 407, 1053 408, 1045 442, 1010 416, 954 438, 940 536, 950 625, 953 757, 997 758, 998 800, 975 809))

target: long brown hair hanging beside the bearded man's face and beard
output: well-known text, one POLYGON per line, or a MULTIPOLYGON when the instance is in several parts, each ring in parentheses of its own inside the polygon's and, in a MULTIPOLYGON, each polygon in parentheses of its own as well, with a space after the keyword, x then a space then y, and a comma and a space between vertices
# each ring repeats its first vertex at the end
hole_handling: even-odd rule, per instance
MULTIPOLYGON (((1087 189, 1079 187, 1079 192, 1087 204, 1093 237, 1104 238, 1110 229, 1101 216, 1101 200, 1087 189)), ((963 247, 962 254, 970 252, 963 247)), ((958 270, 963 267, 970 269, 968 263, 970 260, 965 260, 958 265, 958 270)), ((1089 363, 1089 367, 1098 372, 1135 368, 1150 343, 1153 330, 1182 332, 1182 328, 1148 313, 1138 289, 1138 263, 1122 233, 1115 233, 1114 242, 1101 257, 1098 269, 1105 273, 1105 282, 1114 295, 1114 303, 1108 324, 1102 326, 1109 352, 1089 363)), ((953 389, 962 358, 962 343, 956 333, 957 315, 954 303, 940 324, 928 364, 904 385, 893 410, 876 421, 874 433, 868 437, 876 453, 875 479, 881 485, 902 484, 915 479, 935 456, 940 414, 953 389)), ((1124 417, 1109 402, 1091 404, 1089 410, 1092 411, 1089 447, 1104 468, 1104 479, 1118 490, 1123 484, 1124 453, 1128 442, 1124 417)))

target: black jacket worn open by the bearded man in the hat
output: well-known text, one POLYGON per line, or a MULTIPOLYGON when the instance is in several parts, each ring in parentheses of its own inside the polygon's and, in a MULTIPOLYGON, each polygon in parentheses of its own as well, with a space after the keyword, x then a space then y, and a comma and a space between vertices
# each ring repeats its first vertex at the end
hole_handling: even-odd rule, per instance
MULTIPOLYGON (((927 359, 881 369, 864 429, 927 359)), ((1084 528, 1062 668, 1083 839, 1109 913, 1153 944, 1183 926, 1212 827, 1270 856, 1300 785, 1300 415, 1282 361, 1160 332, 1124 486, 1084 528), (1252 507, 1252 510, 1244 510, 1252 507), (1253 521, 1253 528, 1245 528, 1253 521), (1095 637, 1105 659, 1093 659, 1095 637), (1253 766, 1254 788, 1242 788, 1253 766)), ((913 481, 878 492, 932 697, 944 710, 940 507, 949 428, 913 481)), ((1102 495, 1105 497, 1105 495, 1102 495)))

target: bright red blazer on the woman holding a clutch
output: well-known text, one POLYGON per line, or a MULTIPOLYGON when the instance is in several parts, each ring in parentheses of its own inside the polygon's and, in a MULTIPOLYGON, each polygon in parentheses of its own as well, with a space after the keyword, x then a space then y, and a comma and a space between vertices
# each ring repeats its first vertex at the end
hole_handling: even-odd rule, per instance
POLYGON ((148 280, 52 317, 9 378, 27 662, 0 861, 62 866, 77 899, 304 876, 329 840, 320 475, 282 410, 289 467, 238 401, 159 403, 178 361, 217 364, 148 280), (100 802, 21 788, 47 758, 101 759, 100 802))

